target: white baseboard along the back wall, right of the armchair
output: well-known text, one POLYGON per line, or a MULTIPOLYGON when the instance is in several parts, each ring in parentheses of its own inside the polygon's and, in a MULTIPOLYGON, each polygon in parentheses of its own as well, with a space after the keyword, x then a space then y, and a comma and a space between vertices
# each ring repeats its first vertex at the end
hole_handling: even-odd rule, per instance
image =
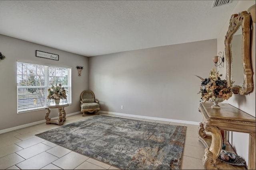
POLYGON ((153 120, 161 120, 161 121, 171 121, 176 123, 186 123, 191 125, 199 125, 199 122, 196 121, 185 121, 185 120, 176 120, 176 119, 166 119, 166 118, 160 118, 160 117, 149 117, 149 116, 141 116, 141 115, 130 115, 126 113, 116 113, 111 111, 102 111, 100 110, 99 113, 106 113, 106 114, 112 114, 112 115, 120 115, 120 116, 128 116, 128 117, 138 117, 143 119, 153 119, 153 120))

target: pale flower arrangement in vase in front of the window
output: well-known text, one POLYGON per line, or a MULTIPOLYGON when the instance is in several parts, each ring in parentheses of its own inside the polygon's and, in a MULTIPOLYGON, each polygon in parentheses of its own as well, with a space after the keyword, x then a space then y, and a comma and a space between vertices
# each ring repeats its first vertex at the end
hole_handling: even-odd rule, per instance
POLYGON ((66 90, 64 87, 61 87, 61 84, 52 85, 51 88, 48 88, 48 96, 47 98, 54 99, 56 105, 60 104, 60 99, 67 99, 66 90))

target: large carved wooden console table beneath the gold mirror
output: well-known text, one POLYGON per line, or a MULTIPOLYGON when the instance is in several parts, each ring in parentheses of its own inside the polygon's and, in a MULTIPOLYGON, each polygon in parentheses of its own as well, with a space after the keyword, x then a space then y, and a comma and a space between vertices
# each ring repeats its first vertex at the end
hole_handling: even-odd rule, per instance
MULTIPOLYGON (((205 149, 203 165, 205 169, 246 169, 244 166, 229 165, 218 160, 222 149, 222 135, 220 130, 242 132, 249 134, 249 156, 248 169, 255 169, 255 117, 237 109, 230 104, 218 104, 220 109, 212 109, 209 102, 200 103, 199 111, 203 121, 198 129, 198 139, 205 149), (211 132, 212 135, 207 135, 211 132)), ((234 152, 232 146, 225 141, 228 152, 234 152)))

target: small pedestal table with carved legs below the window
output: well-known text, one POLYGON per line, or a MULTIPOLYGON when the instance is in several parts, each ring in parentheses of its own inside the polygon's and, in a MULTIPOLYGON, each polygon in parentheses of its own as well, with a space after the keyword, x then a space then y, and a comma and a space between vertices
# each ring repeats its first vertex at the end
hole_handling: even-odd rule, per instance
POLYGON ((57 125, 63 125, 64 121, 66 120, 66 111, 64 110, 64 107, 68 107, 68 104, 62 104, 62 105, 46 105, 44 108, 47 109, 46 112, 46 124, 54 123, 57 125), (49 117, 49 114, 51 112, 51 109, 58 108, 59 113, 59 119, 58 120, 51 120, 49 117))

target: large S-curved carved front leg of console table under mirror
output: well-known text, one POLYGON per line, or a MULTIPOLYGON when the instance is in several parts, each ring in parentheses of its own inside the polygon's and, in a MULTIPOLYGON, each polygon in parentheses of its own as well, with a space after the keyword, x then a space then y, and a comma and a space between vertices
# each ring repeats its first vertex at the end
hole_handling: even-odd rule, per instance
POLYGON ((222 149, 222 137, 218 128, 204 125, 204 130, 212 133, 210 148, 204 150, 203 165, 205 169, 217 169, 215 163, 222 149))

